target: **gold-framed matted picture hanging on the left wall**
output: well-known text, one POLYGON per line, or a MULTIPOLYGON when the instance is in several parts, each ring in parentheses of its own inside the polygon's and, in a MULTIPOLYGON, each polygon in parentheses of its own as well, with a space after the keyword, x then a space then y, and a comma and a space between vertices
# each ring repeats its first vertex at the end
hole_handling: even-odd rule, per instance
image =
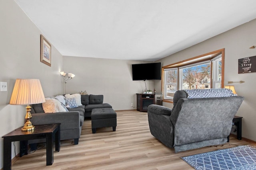
POLYGON ((51 44, 47 41, 47 39, 44 38, 44 36, 41 34, 41 62, 51 66, 51 44))

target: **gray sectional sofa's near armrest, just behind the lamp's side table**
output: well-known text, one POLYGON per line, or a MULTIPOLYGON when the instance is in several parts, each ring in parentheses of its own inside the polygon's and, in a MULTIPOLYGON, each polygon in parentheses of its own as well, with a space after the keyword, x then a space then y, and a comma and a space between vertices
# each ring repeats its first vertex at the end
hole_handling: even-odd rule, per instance
POLYGON ((57 113, 33 113, 32 125, 61 123, 60 130, 79 129, 80 119, 78 111, 67 111, 57 113))

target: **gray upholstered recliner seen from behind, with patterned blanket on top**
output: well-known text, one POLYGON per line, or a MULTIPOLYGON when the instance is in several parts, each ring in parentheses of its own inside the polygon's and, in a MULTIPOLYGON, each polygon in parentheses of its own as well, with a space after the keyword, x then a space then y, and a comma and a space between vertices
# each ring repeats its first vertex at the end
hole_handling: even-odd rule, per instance
POLYGON ((243 99, 229 89, 178 90, 172 109, 148 106, 150 132, 175 152, 222 145, 243 99))

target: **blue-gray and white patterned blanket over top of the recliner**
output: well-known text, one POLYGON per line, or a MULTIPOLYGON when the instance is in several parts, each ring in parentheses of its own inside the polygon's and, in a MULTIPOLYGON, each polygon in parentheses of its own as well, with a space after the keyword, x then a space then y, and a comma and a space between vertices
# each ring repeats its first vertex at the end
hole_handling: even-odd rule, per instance
POLYGON ((194 89, 183 91, 188 94, 188 98, 214 98, 237 96, 237 94, 234 94, 232 90, 227 88, 194 89))

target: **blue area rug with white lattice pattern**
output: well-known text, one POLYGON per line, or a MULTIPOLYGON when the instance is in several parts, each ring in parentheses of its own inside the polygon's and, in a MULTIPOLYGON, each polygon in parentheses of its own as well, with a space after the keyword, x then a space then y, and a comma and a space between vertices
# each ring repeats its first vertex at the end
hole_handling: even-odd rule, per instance
POLYGON ((256 170, 256 148, 250 145, 181 158, 196 170, 256 170))

